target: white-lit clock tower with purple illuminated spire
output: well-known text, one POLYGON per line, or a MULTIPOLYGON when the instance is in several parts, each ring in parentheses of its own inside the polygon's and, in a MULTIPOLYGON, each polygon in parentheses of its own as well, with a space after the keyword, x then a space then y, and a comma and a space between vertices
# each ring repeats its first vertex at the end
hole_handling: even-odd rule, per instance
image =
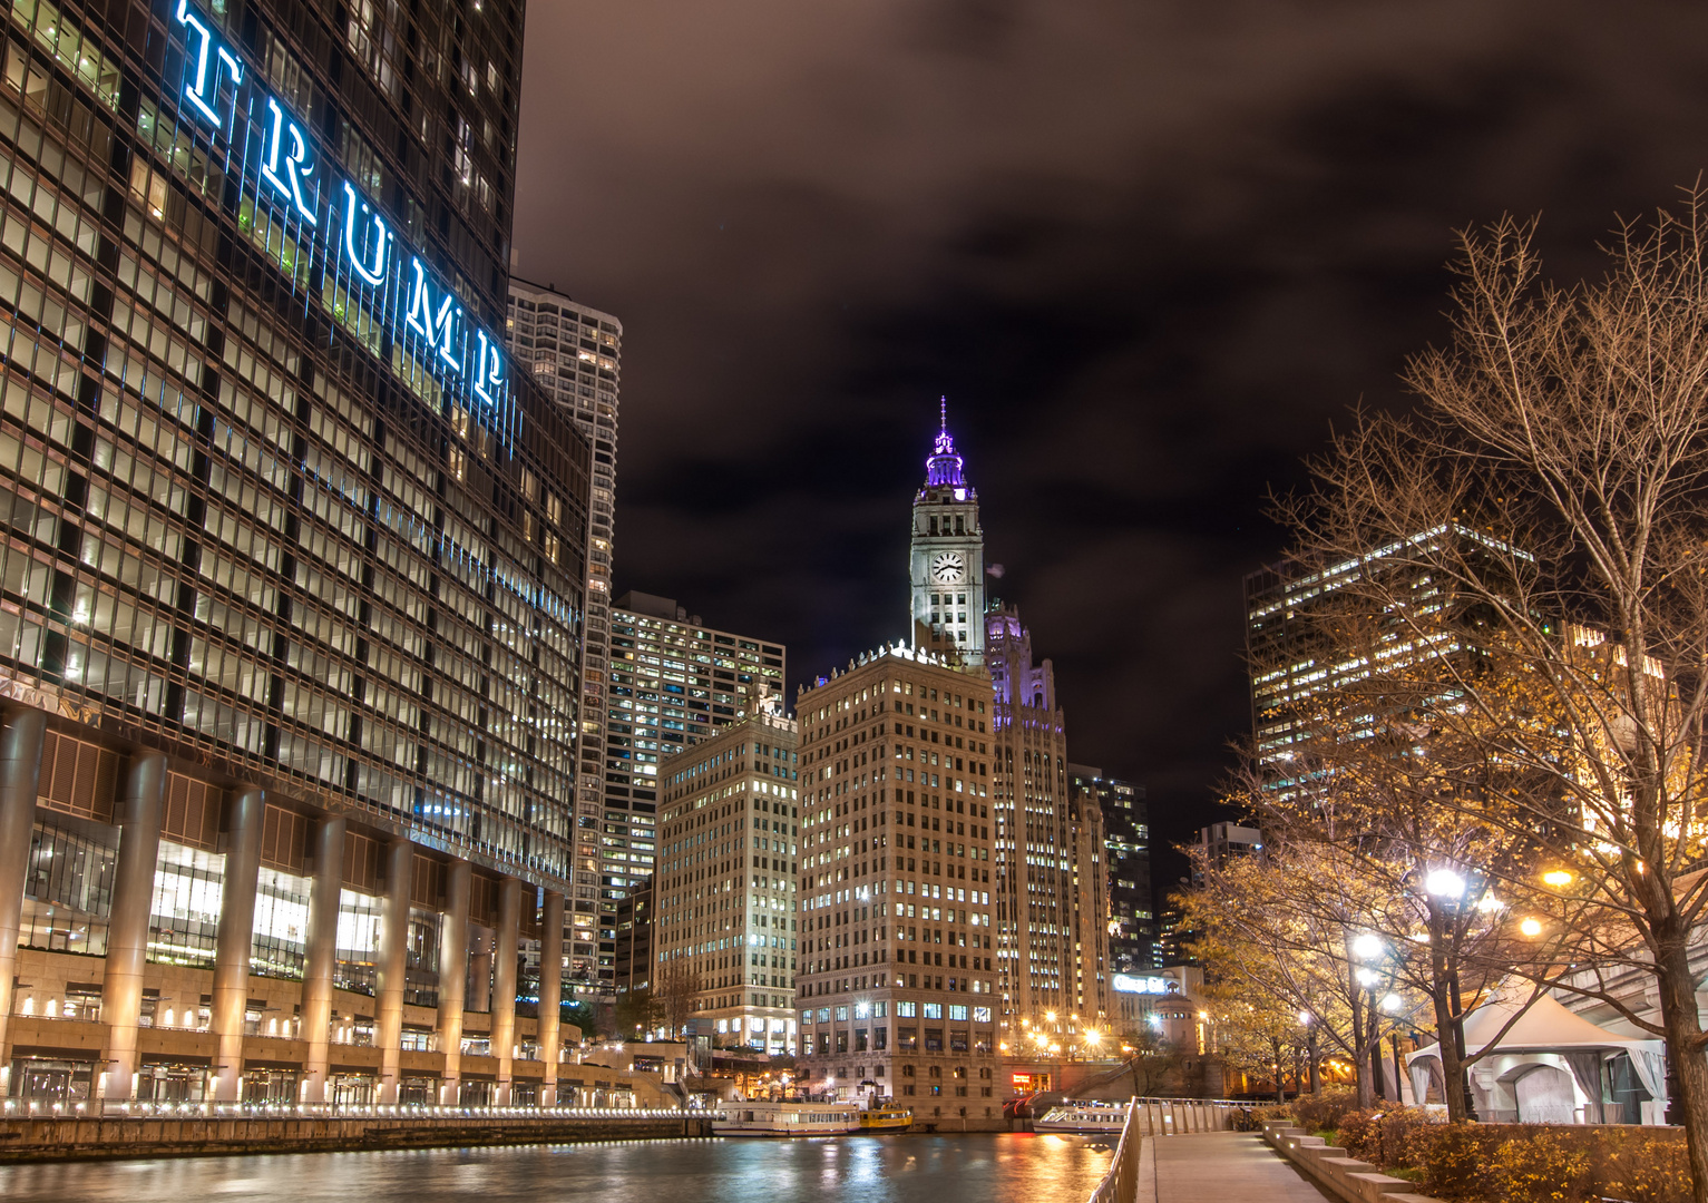
POLYGON ((909 560, 914 643, 984 664, 984 531, 979 495, 967 485, 962 457, 955 454, 948 399, 926 459, 926 485, 914 497, 909 560))

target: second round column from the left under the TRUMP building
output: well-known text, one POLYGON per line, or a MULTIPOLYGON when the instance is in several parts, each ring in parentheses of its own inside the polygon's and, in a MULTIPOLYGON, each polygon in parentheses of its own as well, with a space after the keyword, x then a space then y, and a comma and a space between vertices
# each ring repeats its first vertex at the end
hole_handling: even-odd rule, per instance
POLYGON ((102 1077, 104 1097, 111 1102, 126 1102, 135 1095, 137 1024, 142 1017, 142 976, 149 964, 149 911, 154 906, 154 867, 161 857, 164 799, 166 756, 132 756, 118 799, 118 865, 101 978, 101 1020, 108 1027, 102 1077))

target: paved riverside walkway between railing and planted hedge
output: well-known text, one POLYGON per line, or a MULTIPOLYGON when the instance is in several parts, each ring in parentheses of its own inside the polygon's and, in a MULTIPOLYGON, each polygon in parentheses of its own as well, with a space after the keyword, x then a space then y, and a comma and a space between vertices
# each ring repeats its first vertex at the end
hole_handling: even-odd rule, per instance
POLYGON ((1138 1203, 1322 1203, 1317 1189, 1264 1138, 1201 1131, 1148 1138, 1139 1148, 1138 1203))

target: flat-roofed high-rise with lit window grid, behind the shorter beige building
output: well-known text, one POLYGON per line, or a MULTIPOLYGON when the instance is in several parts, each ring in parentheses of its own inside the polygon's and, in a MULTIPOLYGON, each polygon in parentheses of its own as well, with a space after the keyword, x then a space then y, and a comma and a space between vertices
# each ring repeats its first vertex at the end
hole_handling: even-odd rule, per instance
MULTIPOLYGON (((659 764, 781 700, 786 669, 782 643, 714 631, 670 597, 635 590, 617 599, 600 819, 598 974, 605 993, 613 983, 617 899, 652 872, 659 764)), ((574 915, 576 923, 582 918, 574 915)), ((591 927, 570 935, 577 962, 593 954, 591 927)))

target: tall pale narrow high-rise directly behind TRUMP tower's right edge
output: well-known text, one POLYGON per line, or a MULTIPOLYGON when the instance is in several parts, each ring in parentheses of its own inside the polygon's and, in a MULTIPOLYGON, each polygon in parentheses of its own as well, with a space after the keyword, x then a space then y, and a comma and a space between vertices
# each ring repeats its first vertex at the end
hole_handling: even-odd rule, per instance
MULTIPOLYGON (((600 834, 605 814, 605 724, 611 643, 611 543, 617 514, 617 403, 623 326, 610 314, 511 278, 506 334, 518 372, 557 406, 593 454, 586 509, 586 580, 581 630, 581 706, 576 761, 577 867, 569 908, 569 979, 605 993, 594 925, 600 920, 600 834)), ((600 923, 608 928, 608 925, 600 923)))

